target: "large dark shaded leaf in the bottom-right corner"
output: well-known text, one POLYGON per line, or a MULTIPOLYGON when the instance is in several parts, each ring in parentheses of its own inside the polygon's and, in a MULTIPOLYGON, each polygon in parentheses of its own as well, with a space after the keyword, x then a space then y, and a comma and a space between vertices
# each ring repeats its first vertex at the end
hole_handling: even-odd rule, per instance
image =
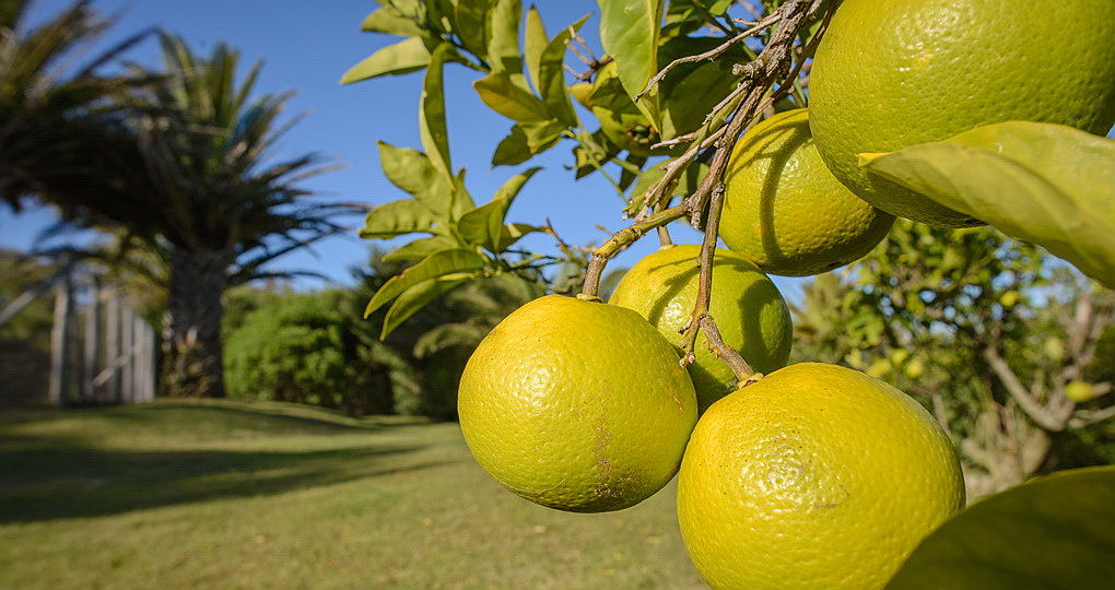
POLYGON ((1108 588, 1115 467, 1064 471, 977 502, 929 535, 886 588, 1108 588))

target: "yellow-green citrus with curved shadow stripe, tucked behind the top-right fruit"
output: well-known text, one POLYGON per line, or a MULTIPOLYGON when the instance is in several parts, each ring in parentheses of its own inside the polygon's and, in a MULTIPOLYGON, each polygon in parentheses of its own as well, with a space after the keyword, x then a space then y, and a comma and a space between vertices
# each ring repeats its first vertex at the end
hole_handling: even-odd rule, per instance
POLYGON ((725 176, 720 238, 773 274, 820 274, 871 251, 894 217, 828 172, 807 109, 779 113, 747 132, 725 176))

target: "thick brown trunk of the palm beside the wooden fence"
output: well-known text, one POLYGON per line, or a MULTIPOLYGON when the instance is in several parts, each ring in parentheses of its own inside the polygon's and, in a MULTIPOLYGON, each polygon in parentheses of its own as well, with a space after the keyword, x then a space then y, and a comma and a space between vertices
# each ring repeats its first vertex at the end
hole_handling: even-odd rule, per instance
POLYGON ((164 387, 172 396, 224 397, 221 297, 232 255, 175 249, 166 301, 164 387))

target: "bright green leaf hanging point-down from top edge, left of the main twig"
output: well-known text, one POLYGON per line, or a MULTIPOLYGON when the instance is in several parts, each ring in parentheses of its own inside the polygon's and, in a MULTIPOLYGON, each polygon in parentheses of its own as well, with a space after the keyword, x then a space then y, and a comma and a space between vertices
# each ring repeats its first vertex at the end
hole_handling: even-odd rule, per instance
MULTIPOLYGON (((604 51, 615 59, 620 80, 628 95, 636 96, 658 74, 658 41, 662 21, 662 0, 598 0, 600 40, 604 51)), ((638 103, 658 129, 658 89, 638 103)))

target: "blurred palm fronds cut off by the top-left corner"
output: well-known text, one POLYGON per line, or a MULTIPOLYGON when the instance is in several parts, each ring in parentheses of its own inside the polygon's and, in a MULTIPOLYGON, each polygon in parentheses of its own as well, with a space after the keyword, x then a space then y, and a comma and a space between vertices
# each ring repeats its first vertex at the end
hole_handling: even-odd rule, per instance
POLYGON ((72 67, 79 54, 112 26, 79 0, 37 28, 25 30, 28 0, 0 0, 0 201, 19 209, 45 178, 70 173, 69 163, 101 117, 106 98, 149 80, 104 76, 103 66, 140 41, 140 32, 72 67))

